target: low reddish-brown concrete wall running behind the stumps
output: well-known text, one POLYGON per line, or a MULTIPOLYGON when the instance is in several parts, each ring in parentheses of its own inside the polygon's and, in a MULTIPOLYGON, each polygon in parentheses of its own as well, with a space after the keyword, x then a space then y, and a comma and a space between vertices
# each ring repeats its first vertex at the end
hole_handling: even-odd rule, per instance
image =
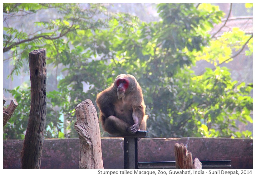
MULTIPOLYGON (((175 161, 174 145, 183 143, 199 160, 231 160, 231 168, 253 168, 253 140, 155 138, 138 141, 138 161, 175 161)), ((3 140, 3 168, 21 168, 23 140, 3 140)), ((104 168, 123 168, 123 138, 101 138, 104 168)), ((41 168, 78 168, 79 139, 45 139, 41 168)))

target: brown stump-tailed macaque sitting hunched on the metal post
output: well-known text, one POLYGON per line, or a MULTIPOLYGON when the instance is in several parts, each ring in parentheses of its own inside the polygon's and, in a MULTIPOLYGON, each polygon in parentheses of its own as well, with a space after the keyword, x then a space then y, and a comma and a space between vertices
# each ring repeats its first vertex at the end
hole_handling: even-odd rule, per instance
POLYGON ((132 75, 121 74, 110 87, 97 95, 104 131, 126 135, 146 130, 147 115, 142 90, 132 75))

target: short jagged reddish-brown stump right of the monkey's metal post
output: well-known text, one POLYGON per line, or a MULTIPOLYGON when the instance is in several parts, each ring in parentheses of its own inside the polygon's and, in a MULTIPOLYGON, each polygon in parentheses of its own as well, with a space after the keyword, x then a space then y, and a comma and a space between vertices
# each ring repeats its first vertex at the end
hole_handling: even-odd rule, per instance
POLYGON ((192 153, 190 153, 183 144, 175 143, 174 145, 175 162, 177 169, 200 169, 202 163, 195 158, 194 164, 192 160, 192 153))

